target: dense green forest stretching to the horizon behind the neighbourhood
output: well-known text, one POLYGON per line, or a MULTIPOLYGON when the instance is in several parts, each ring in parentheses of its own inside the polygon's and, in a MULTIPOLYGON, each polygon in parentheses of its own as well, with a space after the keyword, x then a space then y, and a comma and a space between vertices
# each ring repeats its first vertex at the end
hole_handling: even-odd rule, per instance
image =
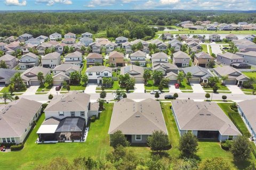
POLYGON ((148 25, 173 25, 182 21, 212 21, 219 23, 256 23, 256 13, 227 11, 84 11, 84 12, 5 12, 0 13, 0 36, 34 37, 67 32, 78 36, 97 33, 96 38, 149 40, 157 32, 148 25))

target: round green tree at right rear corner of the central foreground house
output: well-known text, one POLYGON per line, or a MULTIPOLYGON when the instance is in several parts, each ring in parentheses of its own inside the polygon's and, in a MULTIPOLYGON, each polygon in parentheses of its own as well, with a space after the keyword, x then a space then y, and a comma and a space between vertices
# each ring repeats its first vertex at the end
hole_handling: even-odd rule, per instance
POLYGON ((170 146, 167 134, 163 131, 154 131, 147 139, 147 144, 151 150, 162 151, 170 146))

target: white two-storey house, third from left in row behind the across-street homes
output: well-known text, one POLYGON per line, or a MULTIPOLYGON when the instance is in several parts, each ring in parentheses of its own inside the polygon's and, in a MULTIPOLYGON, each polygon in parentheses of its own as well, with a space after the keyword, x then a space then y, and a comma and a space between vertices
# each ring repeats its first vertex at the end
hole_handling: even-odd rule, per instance
POLYGON ((45 68, 54 68, 57 65, 61 64, 60 53, 53 52, 46 54, 44 57, 41 58, 41 64, 45 68))

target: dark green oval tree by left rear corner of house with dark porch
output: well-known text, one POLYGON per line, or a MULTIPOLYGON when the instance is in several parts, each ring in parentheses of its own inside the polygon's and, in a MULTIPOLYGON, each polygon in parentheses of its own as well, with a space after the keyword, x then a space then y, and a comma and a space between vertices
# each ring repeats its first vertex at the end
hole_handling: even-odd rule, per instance
POLYGON ((189 157, 196 153, 198 140, 193 133, 185 133, 180 137, 179 150, 183 156, 189 157))

